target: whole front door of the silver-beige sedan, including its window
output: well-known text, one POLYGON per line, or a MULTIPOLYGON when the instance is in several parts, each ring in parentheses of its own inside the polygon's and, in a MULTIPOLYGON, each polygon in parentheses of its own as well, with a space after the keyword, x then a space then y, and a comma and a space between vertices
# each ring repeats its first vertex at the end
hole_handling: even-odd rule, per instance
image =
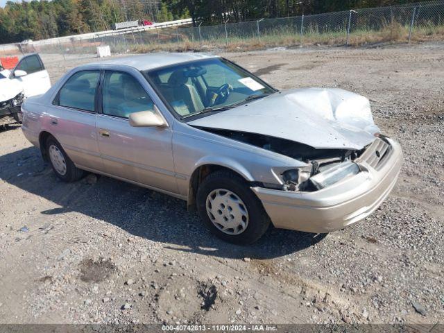
POLYGON ((110 176, 177 193, 171 129, 130 126, 131 113, 147 110, 153 110, 153 101, 133 75, 105 71, 102 113, 96 121, 103 170, 110 176))

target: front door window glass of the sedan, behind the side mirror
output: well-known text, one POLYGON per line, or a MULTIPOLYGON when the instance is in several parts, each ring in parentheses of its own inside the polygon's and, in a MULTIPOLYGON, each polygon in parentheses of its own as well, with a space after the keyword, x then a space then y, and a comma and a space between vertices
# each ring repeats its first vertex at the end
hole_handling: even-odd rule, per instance
POLYGON ((154 112, 153 108, 150 96, 132 75, 121 71, 105 72, 103 114, 128 118, 133 112, 154 112))

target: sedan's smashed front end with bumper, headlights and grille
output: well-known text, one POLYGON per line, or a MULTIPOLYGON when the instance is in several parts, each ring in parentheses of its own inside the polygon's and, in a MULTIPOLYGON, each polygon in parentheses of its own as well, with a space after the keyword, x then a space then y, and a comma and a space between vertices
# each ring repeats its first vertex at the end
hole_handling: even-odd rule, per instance
POLYGON ((379 135, 361 151, 314 155, 307 167, 273 170, 282 189, 252 187, 276 228, 332 232, 364 219, 393 189, 400 144, 379 135))

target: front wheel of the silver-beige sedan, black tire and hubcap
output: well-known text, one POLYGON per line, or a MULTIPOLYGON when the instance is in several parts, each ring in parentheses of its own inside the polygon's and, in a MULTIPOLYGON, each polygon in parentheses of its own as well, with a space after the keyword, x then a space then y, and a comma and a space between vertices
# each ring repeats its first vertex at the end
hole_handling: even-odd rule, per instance
POLYGON ((200 219, 210 232, 233 244, 254 243, 270 225, 270 219, 259 198, 251 191, 246 181, 234 172, 210 173, 198 187, 196 203, 200 219), (241 220, 244 223, 241 223, 241 220), (228 224, 230 227, 236 226, 226 228, 228 224))

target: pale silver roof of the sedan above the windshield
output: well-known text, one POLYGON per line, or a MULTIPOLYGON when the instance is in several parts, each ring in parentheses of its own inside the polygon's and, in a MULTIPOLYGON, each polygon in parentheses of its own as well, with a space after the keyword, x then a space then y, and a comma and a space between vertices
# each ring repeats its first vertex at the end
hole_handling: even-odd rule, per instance
POLYGON ((101 62, 94 62, 95 65, 126 65, 135 67, 139 71, 156 69, 159 67, 176 65, 182 62, 193 60, 219 58, 205 53, 148 53, 139 56, 130 56, 124 58, 106 59, 101 62))

